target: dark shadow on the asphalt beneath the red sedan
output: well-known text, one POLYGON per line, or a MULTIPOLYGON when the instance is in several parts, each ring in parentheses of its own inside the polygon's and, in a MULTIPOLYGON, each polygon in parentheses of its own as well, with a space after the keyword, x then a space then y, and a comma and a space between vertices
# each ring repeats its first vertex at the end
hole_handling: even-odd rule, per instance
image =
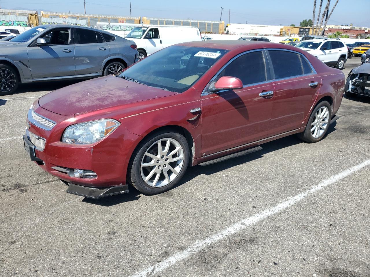
MULTIPOLYGON (((336 122, 333 122, 330 124, 329 130, 327 131, 325 137, 327 135, 330 135, 333 131, 336 130, 335 128, 336 122)), ((324 137, 324 138, 325 138, 324 137)), ((270 141, 269 143, 262 144, 262 150, 259 150, 257 152, 244 155, 237 158, 232 158, 230 160, 226 160, 220 163, 215 163, 207 166, 200 166, 195 165, 194 167, 188 167, 184 177, 180 180, 180 182, 172 189, 175 189, 181 185, 186 184, 187 182, 191 181, 198 175, 212 175, 214 173, 227 170, 231 167, 235 167, 240 164, 248 163, 249 161, 253 161, 259 158, 263 158, 264 154, 271 153, 276 150, 280 150, 282 148, 290 147, 296 144, 305 143, 302 140, 300 140, 296 135, 288 136, 279 138, 274 141, 270 141)), ((166 192, 163 192, 164 194, 166 192)), ((83 202, 94 204, 94 205, 100 205, 100 206, 113 206, 117 204, 121 204, 124 202, 130 202, 138 200, 142 194, 141 192, 137 191, 134 187, 129 186, 129 193, 127 194, 120 194, 120 195, 114 195, 114 196, 108 196, 107 198, 101 198, 101 199, 90 199, 90 198, 84 198, 83 202)), ((150 196, 150 195, 145 195, 150 196)))

